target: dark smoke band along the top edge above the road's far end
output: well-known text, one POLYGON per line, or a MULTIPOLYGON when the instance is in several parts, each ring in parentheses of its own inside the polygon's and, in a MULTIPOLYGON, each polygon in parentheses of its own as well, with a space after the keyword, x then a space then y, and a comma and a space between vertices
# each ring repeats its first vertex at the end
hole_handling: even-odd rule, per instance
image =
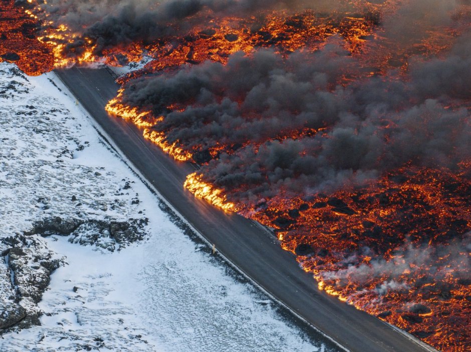
MULTIPOLYGON (((87 41, 95 45, 95 54, 104 49, 141 42, 155 43, 162 38, 185 35, 197 25, 211 25, 215 17, 247 16, 260 10, 300 10, 302 0, 106 0, 62 1, 43 4, 39 15, 46 23, 66 24, 77 36, 65 48, 74 56, 85 50, 87 41), (211 16, 199 16, 201 13, 211 16)), ((321 2, 327 3, 327 2, 321 2)), ((322 5, 322 4, 320 4, 322 5)))

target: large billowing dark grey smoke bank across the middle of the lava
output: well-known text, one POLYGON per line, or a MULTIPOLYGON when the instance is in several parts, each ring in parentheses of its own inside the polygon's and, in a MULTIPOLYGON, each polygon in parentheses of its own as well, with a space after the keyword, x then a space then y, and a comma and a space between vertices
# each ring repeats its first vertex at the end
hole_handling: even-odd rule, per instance
POLYGON ((471 98, 468 39, 445 60, 411 62, 403 80, 338 85, 361 67, 335 45, 287 59, 261 50, 236 53, 225 66, 206 62, 133 80, 123 102, 163 115, 155 129, 189 151, 229 146, 201 173, 236 200, 272 197, 280 188, 332 191, 409 162, 454 168, 469 159, 469 112, 444 105, 471 98), (327 130, 303 135, 320 128, 327 130))

